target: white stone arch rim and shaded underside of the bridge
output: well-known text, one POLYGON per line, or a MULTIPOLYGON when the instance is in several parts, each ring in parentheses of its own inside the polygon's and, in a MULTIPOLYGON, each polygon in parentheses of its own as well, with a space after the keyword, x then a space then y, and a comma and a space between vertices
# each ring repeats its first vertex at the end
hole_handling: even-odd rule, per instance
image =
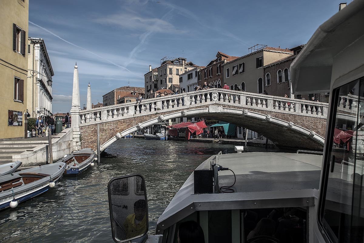
MULTIPOLYGON (((134 121, 130 125, 120 126, 119 129, 116 127, 114 133, 108 134, 108 137, 103 139, 104 142, 101 143, 101 151, 104 151, 108 146, 123 136, 143 127, 151 126, 164 120, 196 116, 230 122, 237 126, 256 131, 280 148, 321 150, 324 144, 324 138, 322 136, 300 126, 299 123, 295 124, 294 122, 285 121, 269 114, 249 109, 209 105, 208 107, 186 109, 170 113, 161 112, 155 114, 153 118, 145 117, 144 120, 139 120, 137 124, 134 121)), ((110 123, 112 122, 116 123, 116 121, 110 121, 110 123)), ((115 127, 114 125, 112 126, 115 127)))

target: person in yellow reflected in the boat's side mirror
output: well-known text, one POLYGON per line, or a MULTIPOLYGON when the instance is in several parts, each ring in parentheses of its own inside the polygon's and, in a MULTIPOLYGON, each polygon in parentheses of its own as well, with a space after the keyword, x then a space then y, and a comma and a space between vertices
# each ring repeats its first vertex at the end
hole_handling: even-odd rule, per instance
POLYGON ((134 203, 134 214, 129 214, 124 222, 126 238, 134 238, 142 235, 147 229, 146 203, 144 199, 139 199, 134 203))

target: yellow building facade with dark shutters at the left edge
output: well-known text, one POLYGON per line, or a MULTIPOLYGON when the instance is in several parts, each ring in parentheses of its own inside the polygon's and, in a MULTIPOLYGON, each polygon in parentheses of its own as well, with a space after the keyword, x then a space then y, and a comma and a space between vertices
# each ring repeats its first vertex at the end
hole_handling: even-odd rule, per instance
POLYGON ((29 0, 1 1, 0 139, 24 137, 29 0))

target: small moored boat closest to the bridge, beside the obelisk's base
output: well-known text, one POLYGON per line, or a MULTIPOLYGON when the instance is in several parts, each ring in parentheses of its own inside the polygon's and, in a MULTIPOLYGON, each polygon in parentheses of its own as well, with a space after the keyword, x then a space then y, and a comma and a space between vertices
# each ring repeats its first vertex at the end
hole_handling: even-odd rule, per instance
POLYGON ((86 171, 91 166, 94 166, 95 158, 95 151, 90 148, 83 148, 80 151, 75 151, 64 156, 64 158, 58 162, 64 162, 67 164, 64 175, 78 175, 86 171))

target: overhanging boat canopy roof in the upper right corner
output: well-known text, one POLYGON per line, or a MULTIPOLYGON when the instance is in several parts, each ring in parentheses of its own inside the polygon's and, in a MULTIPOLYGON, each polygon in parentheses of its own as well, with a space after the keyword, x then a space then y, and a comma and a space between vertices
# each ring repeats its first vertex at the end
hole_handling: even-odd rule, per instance
POLYGON ((329 92, 331 81, 362 73, 363 23, 364 1, 353 1, 320 25, 290 66, 293 93, 329 92))

